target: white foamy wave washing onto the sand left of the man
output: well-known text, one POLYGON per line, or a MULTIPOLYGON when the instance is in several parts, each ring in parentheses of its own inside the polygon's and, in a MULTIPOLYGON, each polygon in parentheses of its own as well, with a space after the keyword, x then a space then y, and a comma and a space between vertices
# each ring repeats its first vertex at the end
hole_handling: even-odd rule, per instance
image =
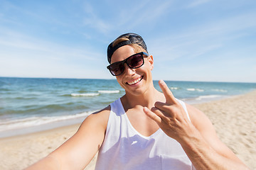
POLYGON ((6 130, 16 130, 20 128, 28 128, 38 125, 44 125, 47 123, 55 123, 60 122, 64 120, 73 120, 86 118, 91 113, 94 113, 95 111, 88 111, 84 113, 77 113, 75 115, 59 115, 59 116, 33 116, 29 118, 21 118, 21 119, 15 119, 15 120, 0 120, 0 132, 4 132, 6 130))

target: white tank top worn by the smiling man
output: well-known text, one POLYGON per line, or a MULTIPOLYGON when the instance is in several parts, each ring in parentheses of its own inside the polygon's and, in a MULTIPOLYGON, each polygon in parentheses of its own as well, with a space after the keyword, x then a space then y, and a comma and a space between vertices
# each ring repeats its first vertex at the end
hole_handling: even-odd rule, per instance
MULTIPOLYGON (((177 101, 188 115, 185 103, 177 101)), ((120 98, 110 106, 105 140, 100 147, 95 169, 192 169, 181 145, 161 128, 145 137, 132 127, 120 98)))

